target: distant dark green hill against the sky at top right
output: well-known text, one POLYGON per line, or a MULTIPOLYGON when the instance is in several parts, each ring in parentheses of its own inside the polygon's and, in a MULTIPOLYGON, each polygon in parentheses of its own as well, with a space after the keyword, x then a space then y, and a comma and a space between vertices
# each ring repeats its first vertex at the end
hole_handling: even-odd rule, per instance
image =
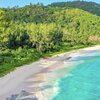
POLYGON ((66 7, 66 8, 79 8, 90 13, 100 16, 100 4, 87 1, 72 1, 72 2, 55 2, 50 6, 52 7, 66 7))

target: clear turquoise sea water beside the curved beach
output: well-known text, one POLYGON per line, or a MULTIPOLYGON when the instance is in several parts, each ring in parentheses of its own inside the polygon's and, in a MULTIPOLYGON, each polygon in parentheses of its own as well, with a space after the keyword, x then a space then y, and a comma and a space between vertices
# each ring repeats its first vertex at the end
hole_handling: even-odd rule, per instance
POLYGON ((100 55, 79 60, 84 62, 70 71, 71 76, 60 79, 52 100, 100 100, 100 55))

